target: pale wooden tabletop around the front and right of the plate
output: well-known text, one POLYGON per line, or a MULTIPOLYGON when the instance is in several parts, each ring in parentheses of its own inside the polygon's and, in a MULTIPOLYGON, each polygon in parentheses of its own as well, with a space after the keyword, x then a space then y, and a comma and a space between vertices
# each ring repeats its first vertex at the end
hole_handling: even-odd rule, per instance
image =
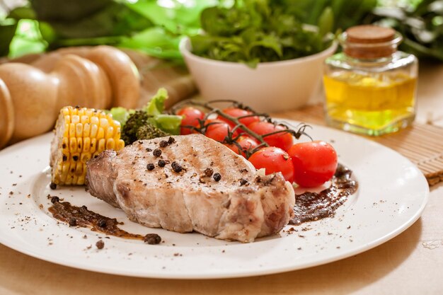
MULTIPOLYGON (((443 65, 422 64, 418 122, 443 126, 443 65)), ((0 294, 443 294, 443 184, 413 226, 351 258, 241 279, 168 280, 55 265, 0 245, 0 294)), ((0 233, 1 234, 1 233, 0 233)))

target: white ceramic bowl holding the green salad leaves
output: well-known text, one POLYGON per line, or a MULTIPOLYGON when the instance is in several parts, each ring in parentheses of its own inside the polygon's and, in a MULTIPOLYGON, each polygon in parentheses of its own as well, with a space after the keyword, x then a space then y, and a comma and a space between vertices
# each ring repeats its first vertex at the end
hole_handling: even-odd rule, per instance
POLYGON ((221 62, 191 52, 188 37, 180 42, 180 52, 197 87, 206 100, 234 99, 259 112, 299 108, 318 93, 323 61, 337 48, 308 57, 281 62, 263 62, 256 69, 236 62, 221 62))

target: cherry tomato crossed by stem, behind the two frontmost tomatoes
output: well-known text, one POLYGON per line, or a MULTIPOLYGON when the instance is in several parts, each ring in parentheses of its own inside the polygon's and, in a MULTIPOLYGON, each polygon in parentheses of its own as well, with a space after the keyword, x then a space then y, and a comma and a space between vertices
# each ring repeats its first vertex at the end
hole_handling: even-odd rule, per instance
MULTIPOLYGON (((283 126, 273 125, 270 122, 253 122, 251 125, 248 125, 248 128, 259 135, 285 129, 283 126)), ((263 139, 265 139, 267 144, 269 144, 270 146, 277 146, 284 151, 287 151, 292 146, 292 144, 294 144, 292 134, 287 132, 272 134, 264 137, 263 139)))

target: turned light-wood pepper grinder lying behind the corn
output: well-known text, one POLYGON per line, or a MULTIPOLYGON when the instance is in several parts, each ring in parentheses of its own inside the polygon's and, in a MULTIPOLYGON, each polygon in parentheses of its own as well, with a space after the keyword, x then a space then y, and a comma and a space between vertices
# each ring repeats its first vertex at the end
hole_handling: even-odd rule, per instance
POLYGON ((65 49, 33 64, 0 65, 0 148, 48 132, 66 105, 135 108, 139 74, 109 46, 65 49))

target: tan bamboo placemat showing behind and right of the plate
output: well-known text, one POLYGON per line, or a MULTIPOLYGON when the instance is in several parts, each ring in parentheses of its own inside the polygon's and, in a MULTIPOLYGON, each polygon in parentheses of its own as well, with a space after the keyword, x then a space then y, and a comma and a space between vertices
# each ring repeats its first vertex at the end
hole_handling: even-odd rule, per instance
MULTIPOLYGON (((322 105, 311 105, 299 110, 279 112, 284 117, 317 125, 326 125, 322 105)), ((381 137, 366 137, 388 146, 410 159, 422 171, 430 186, 443 181, 443 128, 414 123, 413 126, 381 137)))

